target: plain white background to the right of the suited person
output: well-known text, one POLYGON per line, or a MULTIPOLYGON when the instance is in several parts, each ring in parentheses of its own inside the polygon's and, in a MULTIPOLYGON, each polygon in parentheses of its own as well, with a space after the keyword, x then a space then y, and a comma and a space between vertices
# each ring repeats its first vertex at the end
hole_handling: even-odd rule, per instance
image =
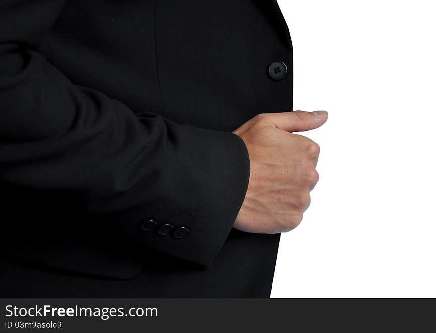
POLYGON ((436 297, 436 20, 428 0, 279 0, 294 110, 327 110, 320 181, 272 298, 436 297))

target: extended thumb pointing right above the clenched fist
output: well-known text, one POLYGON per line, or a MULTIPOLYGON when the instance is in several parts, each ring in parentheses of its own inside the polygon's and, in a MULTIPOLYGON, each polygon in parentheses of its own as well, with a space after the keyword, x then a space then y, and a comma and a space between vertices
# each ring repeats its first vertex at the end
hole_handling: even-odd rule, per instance
POLYGON ((323 125, 328 118, 327 111, 294 111, 273 113, 274 125, 287 132, 309 131, 323 125))

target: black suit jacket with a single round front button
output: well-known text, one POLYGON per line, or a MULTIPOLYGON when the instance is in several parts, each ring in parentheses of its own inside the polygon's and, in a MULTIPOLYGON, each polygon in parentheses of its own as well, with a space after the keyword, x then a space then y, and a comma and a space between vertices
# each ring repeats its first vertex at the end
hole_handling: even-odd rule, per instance
POLYGON ((274 0, 1 1, 3 257, 109 279, 213 269, 204 284, 237 283, 209 296, 269 295, 279 235, 232 229, 250 163, 231 131, 290 111, 292 76, 274 0))

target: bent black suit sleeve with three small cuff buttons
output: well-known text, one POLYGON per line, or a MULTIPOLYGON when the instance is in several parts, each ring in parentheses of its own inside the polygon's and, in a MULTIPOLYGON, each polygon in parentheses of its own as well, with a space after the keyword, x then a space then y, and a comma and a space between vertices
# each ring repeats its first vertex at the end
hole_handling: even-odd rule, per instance
POLYGON ((1 182, 64 190, 90 214, 107 217, 119 237, 211 264, 247 190, 244 142, 147 110, 136 116, 69 81, 35 51, 64 2, 1 1, 1 182), (157 216, 174 221, 167 237, 157 216))

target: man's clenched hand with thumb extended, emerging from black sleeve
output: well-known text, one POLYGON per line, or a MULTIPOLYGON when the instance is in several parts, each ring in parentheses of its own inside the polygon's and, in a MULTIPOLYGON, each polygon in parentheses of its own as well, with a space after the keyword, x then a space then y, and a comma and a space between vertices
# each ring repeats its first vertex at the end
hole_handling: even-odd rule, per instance
POLYGON ((327 121, 326 111, 260 114, 233 133, 245 142, 250 181, 233 225, 250 233, 275 234, 297 227, 318 182, 320 148, 291 132, 308 131, 327 121))

